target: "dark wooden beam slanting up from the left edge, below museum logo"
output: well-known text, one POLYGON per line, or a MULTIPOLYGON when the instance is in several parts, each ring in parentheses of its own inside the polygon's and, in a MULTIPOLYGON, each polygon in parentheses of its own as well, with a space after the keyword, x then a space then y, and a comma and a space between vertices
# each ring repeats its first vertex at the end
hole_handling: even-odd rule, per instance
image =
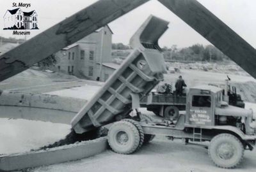
POLYGON ((101 0, 0 56, 0 82, 75 43, 148 0, 101 0))

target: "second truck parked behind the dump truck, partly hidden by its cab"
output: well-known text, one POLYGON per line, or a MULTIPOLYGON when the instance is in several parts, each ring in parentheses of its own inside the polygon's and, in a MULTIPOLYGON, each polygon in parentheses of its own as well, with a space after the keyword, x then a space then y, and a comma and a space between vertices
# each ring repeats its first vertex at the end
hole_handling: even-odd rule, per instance
MULTIPOLYGON (((225 80, 223 84, 209 83, 214 87, 220 87, 223 92, 223 99, 232 106, 244 108, 244 101, 241 95, 237 94, 236 87, 230 85, 229 80, 225 80)), ((179 111, 186 110, 186 92, 177 96, 175 91, 166 93, 159 93, 156 91, 150 92, 148 96, 143 97, 140 101, 140 106, 147 108, 158 116, 166 119, 175 120, 179 117, 179 111)))

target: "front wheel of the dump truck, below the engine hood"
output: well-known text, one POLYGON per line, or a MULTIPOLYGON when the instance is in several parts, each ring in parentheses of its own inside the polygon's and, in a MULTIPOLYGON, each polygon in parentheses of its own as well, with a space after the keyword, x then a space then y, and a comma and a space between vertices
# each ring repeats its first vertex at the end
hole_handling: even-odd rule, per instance
POLYGON ((218 134, 212 138, 208 154, 212 162, 220 168, 236 168, 243 159, 244 147, 232 134, 218 134))

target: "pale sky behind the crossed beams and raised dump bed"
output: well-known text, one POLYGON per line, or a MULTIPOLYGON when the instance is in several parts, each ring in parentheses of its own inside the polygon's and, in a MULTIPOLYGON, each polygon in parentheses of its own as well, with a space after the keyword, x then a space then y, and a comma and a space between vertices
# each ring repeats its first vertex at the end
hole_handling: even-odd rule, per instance
MULTIPOLYGON (((97 0, 0 0, 0 36, 24 38, 24 36, 13 36, 13 31, 3 30, 3 16, 6 10, 12 10, 13 3, 30 3, 29 8, 21 8, 22 11, 36 10, 38 13, 38 30, 31 31, 27 39, 45 31, 54 24, 69 17, 97 0)), ((104 1, 104 0, 101 0, 104 1)), ((256 47, 256 1, 255 0, 198 0, 214 15, 244 38, 250 45, 256 47)), ((127 45, 132 34, 140 27, 149 15, 163 18, 170 22, 169 29, 159 39, 161 47, 177 45, 179 48, 189 47, 199 43, 209 45, 210 43, 189 25, 168 10, 157 0, 148 1, 130 11, 124 16, 109 23, 113 31, 113 43, 124 43, 127 45)))

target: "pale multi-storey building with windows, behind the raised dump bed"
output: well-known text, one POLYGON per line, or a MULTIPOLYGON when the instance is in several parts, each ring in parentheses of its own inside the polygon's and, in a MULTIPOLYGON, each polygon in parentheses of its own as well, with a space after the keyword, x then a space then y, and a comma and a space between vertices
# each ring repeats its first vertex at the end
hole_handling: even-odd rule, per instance
POLYGON ((111 57, 111 29, 106 25, 76 43, 56 53, 58 63, 56 71, 75 76, 83 76, 90 80, 106 81, 113 73, 115 66, 111 57))

